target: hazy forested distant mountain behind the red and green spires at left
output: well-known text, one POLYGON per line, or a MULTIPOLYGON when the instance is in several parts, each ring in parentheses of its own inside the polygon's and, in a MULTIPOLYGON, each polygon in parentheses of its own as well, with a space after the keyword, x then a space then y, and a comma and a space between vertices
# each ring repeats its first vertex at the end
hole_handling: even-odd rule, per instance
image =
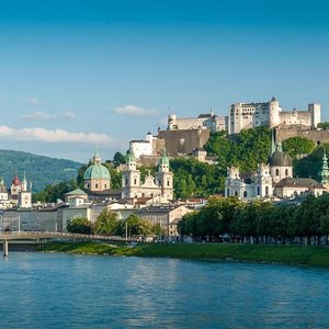
POLYGON ((25 171, 27 181, 32 181, 33 191, 38 192, 48 184, 76 179, 81 166, 82 163, 71 160, 0 150, 0 175, 4 179, 8 189, 15 172, 22 180, 25 171))

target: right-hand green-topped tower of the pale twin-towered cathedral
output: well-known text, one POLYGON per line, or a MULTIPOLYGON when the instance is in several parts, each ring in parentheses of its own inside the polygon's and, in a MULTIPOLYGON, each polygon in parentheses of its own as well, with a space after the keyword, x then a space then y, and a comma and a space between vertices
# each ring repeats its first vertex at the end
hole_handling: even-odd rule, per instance
POLYGON ((161 188, 161 197, 164 201, 173 200, 173 173, 169 170, 169 158, 166 149, 162 150, 156 179, 157 185, 161 188))

